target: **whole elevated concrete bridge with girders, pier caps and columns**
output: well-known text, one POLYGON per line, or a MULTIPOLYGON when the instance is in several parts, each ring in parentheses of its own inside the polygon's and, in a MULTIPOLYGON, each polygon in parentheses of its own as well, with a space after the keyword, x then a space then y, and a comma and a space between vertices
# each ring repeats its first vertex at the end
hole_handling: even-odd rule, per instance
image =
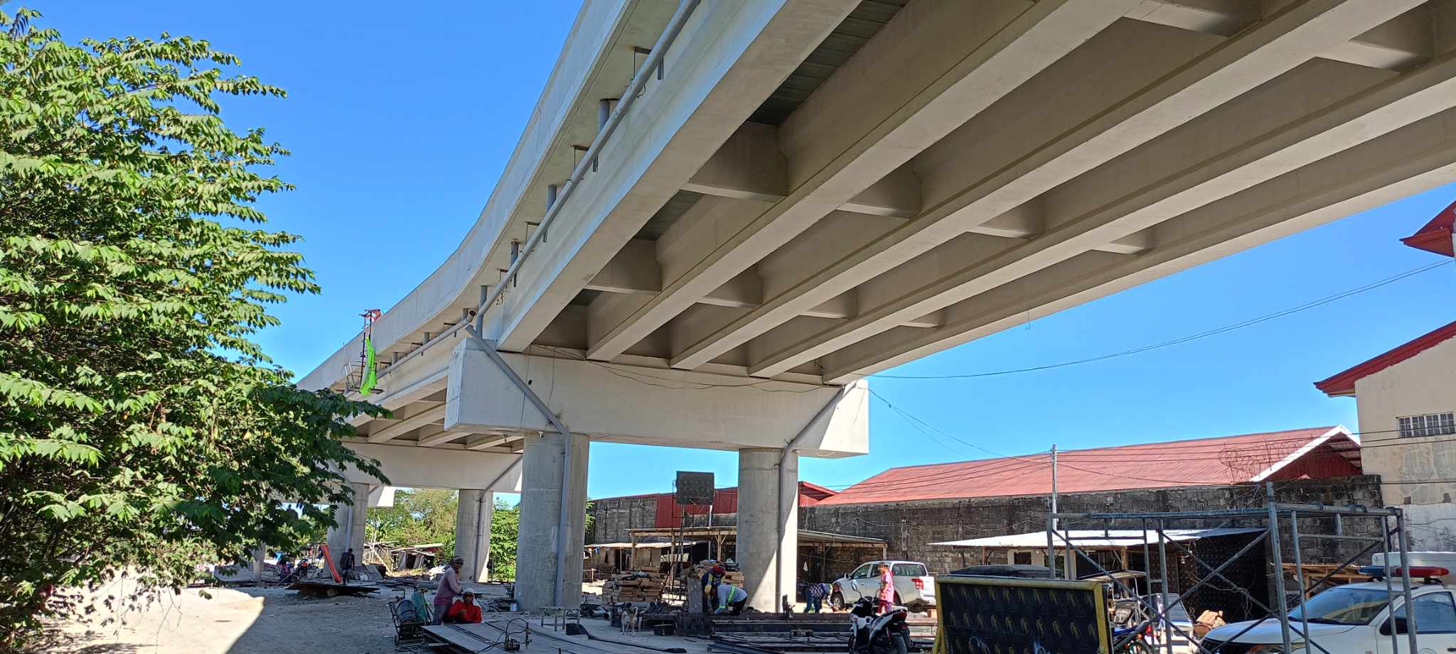
POLYGON ((377 321, 395 416, 354 446, 521 491, 527 607, 579 589, 588 440, 740 451, 772 609, 782 490, 866 451, 865 375, 1456 179, 1453 12, 587 0, 479 219, 377 321))

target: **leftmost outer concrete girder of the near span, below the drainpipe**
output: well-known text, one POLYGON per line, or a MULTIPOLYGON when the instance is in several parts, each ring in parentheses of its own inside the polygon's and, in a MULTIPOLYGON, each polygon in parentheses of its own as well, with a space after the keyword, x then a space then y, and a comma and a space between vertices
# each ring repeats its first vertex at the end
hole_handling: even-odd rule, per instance
POLYGON ((486 334, 521 352, 561 314, 712 151, 855 7, 855 0, 703 3, 667 51, 668 81, 649 86, 603 145, 547 243, 524 260, 520 286, 486 315, 486 334))

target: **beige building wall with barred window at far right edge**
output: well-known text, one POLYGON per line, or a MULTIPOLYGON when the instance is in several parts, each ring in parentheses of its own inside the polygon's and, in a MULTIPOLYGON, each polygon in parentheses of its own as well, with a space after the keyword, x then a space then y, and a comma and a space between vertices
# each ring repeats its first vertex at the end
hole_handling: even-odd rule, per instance
POLYGON ((1402 416, 1456 411, 1456 340, 1357 381, 1356 397, 1364 469, 1380 475, 1386 501, 1406 504, 1411 548, 1456 549, 1456 484, 1428 483, 1456 477, 1456 442, 1399 433, 1402 416))

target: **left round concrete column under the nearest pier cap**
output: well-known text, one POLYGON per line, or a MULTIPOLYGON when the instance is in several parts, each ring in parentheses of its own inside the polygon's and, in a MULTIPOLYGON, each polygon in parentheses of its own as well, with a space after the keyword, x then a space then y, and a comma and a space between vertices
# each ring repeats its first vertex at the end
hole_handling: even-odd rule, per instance
POLYGON ((515 602, 523 610, 581 603, 581 548, 587 538, 585 436, 546 432, 526 437, 521 461, 521 526, 515 541, 515 602), (571 455, 571 471, 562 464, 571 455), (562 487, 566 533, 561 533, 562 487), (561 576, 558 577, 558 570, 561 576), (559 581, 559 600, 558 600, 559 581))

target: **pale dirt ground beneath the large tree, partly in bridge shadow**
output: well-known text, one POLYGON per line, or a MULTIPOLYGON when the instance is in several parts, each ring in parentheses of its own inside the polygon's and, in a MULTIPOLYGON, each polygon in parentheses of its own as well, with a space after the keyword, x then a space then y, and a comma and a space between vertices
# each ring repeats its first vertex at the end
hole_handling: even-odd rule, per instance
POLYGON ((304 599, 293 590, 189 589, 121 625, 83 625, 54 632, 57 654, 381 654, 395 651, 387 602, 397 592, 304 599))

